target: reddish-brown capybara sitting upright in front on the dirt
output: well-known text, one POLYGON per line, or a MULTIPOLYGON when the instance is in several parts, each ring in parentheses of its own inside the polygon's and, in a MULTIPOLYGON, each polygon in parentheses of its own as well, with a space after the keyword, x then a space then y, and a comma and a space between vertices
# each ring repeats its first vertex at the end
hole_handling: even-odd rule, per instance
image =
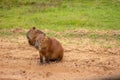
POLYGON ((46 63, 50 61, 58 62, 63 58, 63 47, 60 42, 54 38, 39 34, 36 38, 35 46, 39 49, 41 64, 43 63, 43 57, 46 63))

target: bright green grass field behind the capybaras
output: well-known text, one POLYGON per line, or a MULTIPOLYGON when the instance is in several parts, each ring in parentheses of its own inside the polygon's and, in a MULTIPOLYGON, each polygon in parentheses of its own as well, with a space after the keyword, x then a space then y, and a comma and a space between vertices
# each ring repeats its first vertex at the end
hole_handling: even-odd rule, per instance
POLYGON ((119 0, 2 0, 0 29, 120 30, 119 0), (7 4, 6 4, 7 3, 7 4))

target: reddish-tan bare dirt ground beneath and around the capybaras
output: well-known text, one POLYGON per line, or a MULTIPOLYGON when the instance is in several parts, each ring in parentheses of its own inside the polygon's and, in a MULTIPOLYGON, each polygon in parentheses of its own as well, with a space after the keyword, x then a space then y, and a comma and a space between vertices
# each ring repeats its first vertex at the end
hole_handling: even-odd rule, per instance
POLYGON ((0 37, 0 80, 108 80, 120 76, 120 43, 102 39, 93 43, 89 38, 58 40, 65 49, 63 60, 40 65, 38 51, 25 36, 0 37))

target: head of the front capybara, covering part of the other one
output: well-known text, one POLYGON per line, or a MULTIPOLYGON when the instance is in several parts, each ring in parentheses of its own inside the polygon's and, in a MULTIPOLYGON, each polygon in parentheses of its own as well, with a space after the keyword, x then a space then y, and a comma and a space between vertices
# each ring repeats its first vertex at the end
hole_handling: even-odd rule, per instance
POLYGON ((46 35, 40 34, 36 38, 35 47, 37 49, 42 49, 47 47, 48 37, 46 35))

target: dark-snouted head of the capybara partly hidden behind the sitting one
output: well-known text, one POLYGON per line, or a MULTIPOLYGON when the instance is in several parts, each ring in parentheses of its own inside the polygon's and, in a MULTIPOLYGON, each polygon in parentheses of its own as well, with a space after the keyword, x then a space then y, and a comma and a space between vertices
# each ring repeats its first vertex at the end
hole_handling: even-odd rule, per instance
POLYGON ((39 34, 44 34, 42 31, 36 29, 35 27, 31 28, 28 32, 27 32, 27 39, 30 45, 34 46, 35 45, 35 39, 39 34))

